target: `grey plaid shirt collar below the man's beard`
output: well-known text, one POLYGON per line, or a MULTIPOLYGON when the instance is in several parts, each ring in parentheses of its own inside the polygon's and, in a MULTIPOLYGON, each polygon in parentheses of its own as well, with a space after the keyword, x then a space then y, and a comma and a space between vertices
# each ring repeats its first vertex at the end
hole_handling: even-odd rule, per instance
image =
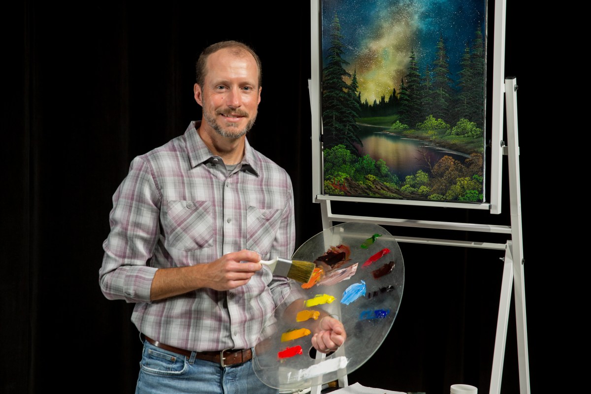
MULTIPOLYGON (((189 154, 189 162, 191 168, 197 167, 197 165, 203 164, 204 162, 210 161, 213 157, 212 152, 209 151, 207 145, 201 139, 199 129, 201 121, 193 121, 189 123, 189 127, 184 133, 187 141, 187 154, 189 154)), ((244 139, 244 157, 242 158, 241 171, 249 171, 254 173, 258 177, 260 174, 259 162, 256 160, 255 151, 251 148, 248 143, 248 138, 244 139)))

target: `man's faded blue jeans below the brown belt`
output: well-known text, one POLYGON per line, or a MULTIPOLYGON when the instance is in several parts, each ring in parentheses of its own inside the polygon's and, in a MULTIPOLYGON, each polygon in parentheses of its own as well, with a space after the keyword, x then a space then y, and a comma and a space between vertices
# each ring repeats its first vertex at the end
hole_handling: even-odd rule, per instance
POLYGON ((252 360, 222 367, 144 341, 136 394, 277 394, 256 377, 252 360))

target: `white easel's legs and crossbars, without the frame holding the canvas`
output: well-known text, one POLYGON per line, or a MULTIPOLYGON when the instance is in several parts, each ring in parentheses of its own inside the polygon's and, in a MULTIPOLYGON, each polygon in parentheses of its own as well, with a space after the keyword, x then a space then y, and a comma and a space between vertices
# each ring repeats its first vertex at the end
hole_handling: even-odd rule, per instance
MULTIPOLYGON (((530 374, 527 350, 527 323, 525 318, 524 258, 521 226, 521 195, 519 191, 519 146, 517 134, 517 83, 515 78, 505 79, 507 144, 499 144, 502 154, 508 155, 509 165, 509 202, 511 225, 432 222, 424 220, 392 219, 385 217, 362 217, 345 214, 333 214, 330 198, 317 196, 321 204, 322 226, 328 229, 335 222, 365 222, 387 226, 423 227, 442 230, 463 230, 485 233, 502 233, 510 236, 506 243, 470 242, 446 239, 428 239, 418 237, 395 237, 397 242, 425 243, 429 245, 460 246, 464 248, 483 248, 505 250, 502 273, 499 314, 496 325, 495 348, 493 353, 490 394, 501 392, 501 378, 505 357, 505 343, 511 308, 511 291, 515 290, 515 320, 517 324, 517 350, 519 363, 519 389, 521 394, 530 394, 530 374)), ((357 202, 366 201, 359 198, 357 202)), ((347 385, 346 376, 339 387, 347 385)), ((317 391, 319 393, 320 391, 317 391)), ((313 391, 314 394, 316 394, 313 391)))

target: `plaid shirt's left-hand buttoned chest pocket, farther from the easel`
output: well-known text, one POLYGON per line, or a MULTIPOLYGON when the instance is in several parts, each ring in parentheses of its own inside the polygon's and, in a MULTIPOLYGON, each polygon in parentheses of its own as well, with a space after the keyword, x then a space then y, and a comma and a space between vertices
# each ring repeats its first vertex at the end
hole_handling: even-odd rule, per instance
POLYGON ((213 245, 210 201, 167 201, 163 226, 167 248, 197 250, 213 245))

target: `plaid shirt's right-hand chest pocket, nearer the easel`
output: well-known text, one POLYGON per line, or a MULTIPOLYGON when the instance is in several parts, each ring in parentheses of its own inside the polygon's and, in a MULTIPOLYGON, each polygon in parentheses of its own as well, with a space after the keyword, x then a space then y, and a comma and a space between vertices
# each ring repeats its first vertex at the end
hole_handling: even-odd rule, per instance
MULTIPOLYGON (((280 209, 246 209, 246 248, 267 255, 273 246, 281 222, 280 209)), ((286 241, 287 242, 287 241, 286 241)))

